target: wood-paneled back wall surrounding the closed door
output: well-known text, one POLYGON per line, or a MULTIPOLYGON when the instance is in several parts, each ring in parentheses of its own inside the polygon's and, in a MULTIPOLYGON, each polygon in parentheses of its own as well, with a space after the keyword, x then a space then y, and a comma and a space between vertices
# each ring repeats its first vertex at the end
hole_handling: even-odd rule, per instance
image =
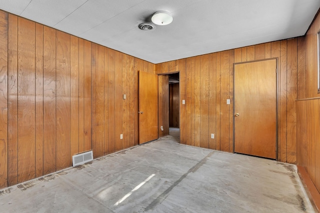
POLYGON ((303 56, 304 37, 298 37, 156 64, 156 73, 180 73, 180 142, 233 152, 233 63, 278 58, 278 159, 295 163, 294 101, 303 56))

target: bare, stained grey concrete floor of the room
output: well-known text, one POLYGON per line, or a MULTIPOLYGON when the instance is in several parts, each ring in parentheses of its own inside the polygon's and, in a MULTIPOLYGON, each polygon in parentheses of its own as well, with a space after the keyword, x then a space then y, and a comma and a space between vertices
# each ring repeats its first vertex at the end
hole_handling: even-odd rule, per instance
POLYGON ((314 212, 294 165, 177 134, 0 191, 1 213, 314 212))

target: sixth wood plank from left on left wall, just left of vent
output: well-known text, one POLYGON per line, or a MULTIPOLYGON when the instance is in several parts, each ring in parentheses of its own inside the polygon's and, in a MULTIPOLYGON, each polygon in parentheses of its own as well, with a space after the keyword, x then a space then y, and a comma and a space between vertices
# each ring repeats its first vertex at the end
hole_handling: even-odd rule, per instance
POLYGON ((70 167, 70 35, 56 31, 56 170, 70 167))

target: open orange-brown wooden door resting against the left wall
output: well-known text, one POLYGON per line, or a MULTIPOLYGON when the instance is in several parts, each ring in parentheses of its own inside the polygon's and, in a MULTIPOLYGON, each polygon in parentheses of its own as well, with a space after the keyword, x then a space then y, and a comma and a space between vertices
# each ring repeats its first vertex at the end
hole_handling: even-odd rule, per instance
POLYGON ((138 73, 139 92, 139 144, 158 138, 158 76, 138 73))

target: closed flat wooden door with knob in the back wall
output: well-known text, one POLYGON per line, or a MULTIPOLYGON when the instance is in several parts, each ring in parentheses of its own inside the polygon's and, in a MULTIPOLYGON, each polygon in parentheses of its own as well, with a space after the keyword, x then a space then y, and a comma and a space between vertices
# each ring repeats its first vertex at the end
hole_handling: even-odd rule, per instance
POLYGON ((276 59, 234 64, 234 152, 276 159, 276 59))

